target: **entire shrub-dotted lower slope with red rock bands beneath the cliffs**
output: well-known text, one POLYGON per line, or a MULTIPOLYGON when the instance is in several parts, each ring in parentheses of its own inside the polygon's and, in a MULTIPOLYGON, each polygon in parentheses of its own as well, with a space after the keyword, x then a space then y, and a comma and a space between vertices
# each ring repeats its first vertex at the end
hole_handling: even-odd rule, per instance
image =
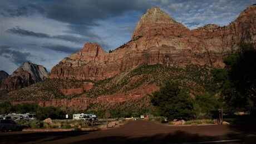
POLYGON ((91 90, 81 94, 72 93, 65 96, 61 89, 81 88, 83 83, 91 81, 47 79, 21 90, 9 92, 2 96, 1 100, 35 101, 37 103, 44 101, 48 105, 73 110, 99 111, 121 108, 137 111, 153 108, 147 93, 151 94, 168 80, 179 81, 180 86, 185 88, 190 96, 215 91, 213 78, 206 66, 190 64, 186 67, 166 67, 163 64, 142 64, 112 78, 93 82, 91 90), (148 90, 144 91, 146 88, 148 90), (72 100, 77 100, 76 98, 86 98, 86 106, 83 107, 83 101, 80 100, 78 100, 80 103, 76 101, 71 105, 72 100), (71 106, 67 106, 67 103, 56 102, 62 100, 70 101, 67 103, 71 106))

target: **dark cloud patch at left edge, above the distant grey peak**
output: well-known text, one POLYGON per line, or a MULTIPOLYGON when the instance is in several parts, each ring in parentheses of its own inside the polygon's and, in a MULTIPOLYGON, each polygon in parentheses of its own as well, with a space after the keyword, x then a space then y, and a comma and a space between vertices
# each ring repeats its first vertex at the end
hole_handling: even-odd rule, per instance
POLYGON ((29 52, 20 52, 16 47, 0 46, 0 56, 8 58, 9 61, 19 66, 23 62, 28 61, 28 57, 32 57, 33 55, 29 52))

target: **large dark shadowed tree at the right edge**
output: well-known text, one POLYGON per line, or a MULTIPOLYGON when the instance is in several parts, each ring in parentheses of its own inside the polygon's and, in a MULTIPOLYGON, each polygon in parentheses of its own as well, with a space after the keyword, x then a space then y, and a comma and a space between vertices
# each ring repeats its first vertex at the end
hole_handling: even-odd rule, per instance
POLYGON ((224 59, 224 69, 211 73, 221 98, 233 111, 256 110, 256 50, 252 43, 239 44, 239 51, 224 59))

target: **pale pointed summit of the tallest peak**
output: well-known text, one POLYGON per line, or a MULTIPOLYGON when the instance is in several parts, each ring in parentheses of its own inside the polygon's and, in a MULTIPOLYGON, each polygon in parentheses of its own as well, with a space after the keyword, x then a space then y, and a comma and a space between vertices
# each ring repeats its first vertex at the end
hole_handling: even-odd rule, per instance
POLYGON ((140 37, 151 37, 157 34, 166 36, 163 31, 168 31, 173 27, 185 28, 183 24, 174 21, 170 15, 162 11, 158 7, 152 7, 140 18, 137 22, 134 33, 132 34, 132 40, 136 40, 140 37))

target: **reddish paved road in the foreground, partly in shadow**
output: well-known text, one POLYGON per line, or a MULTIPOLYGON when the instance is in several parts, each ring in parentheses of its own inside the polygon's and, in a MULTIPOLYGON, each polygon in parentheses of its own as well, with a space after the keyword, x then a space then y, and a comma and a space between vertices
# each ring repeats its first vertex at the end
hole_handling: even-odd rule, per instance
POLYGON ((166 126, 129 121, 101 131, 0 132, 0 143, 255 143, 255 126, 166 126))

